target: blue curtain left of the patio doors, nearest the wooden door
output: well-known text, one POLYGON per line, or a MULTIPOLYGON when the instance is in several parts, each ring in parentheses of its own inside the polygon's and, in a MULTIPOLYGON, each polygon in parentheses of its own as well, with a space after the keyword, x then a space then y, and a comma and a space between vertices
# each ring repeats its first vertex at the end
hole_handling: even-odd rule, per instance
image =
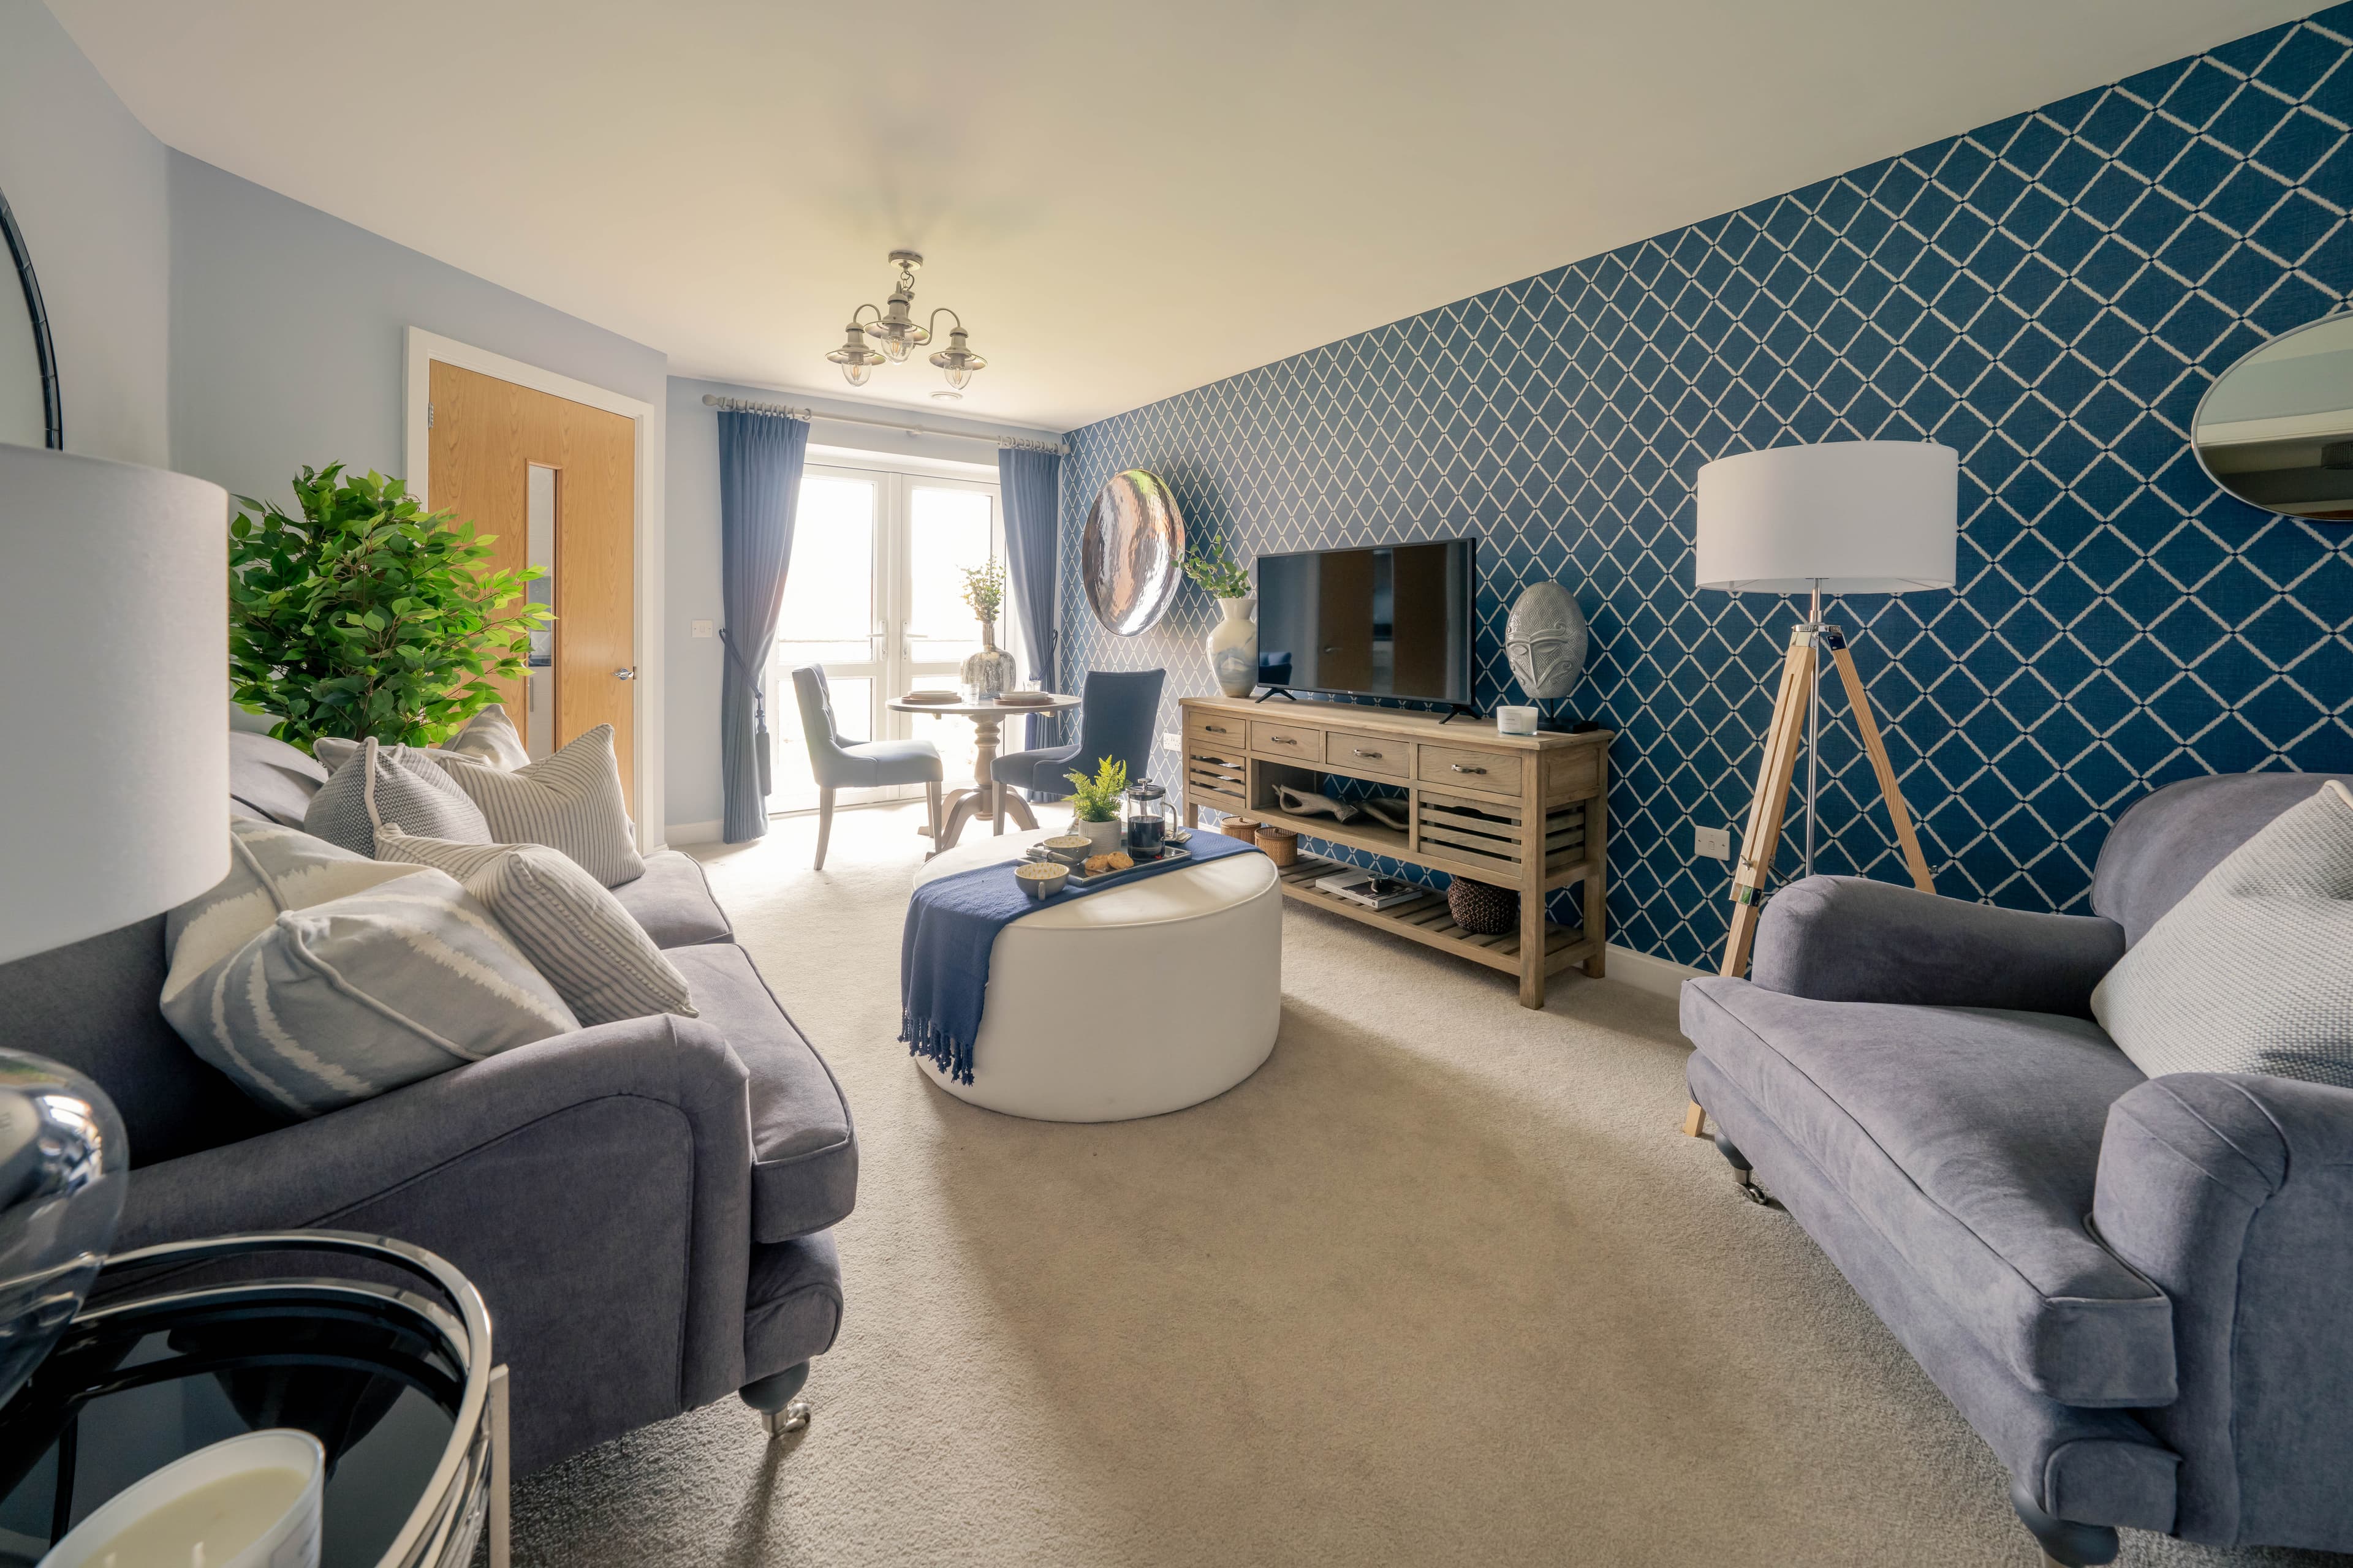
POLYGON ((720 783, 725 837, 744 844, 767 832, 767 651, 776 642, 784 574, 793 564, 793 515, 809 421, 774 414, 720 414, 720 783))

